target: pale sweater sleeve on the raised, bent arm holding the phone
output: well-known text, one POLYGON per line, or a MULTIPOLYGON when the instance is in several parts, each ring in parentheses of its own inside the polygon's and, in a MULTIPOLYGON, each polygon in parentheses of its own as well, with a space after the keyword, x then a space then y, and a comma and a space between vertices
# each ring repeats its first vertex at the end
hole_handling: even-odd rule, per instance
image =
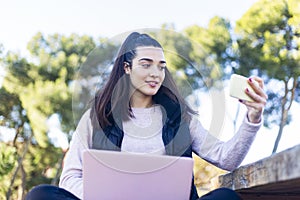
POLYGON ((237 133, 228 141, 221 141, 208 133, 196 117, 190 123, 193 151, 204 160, 228 171, 236 169, 247 155, 261 123, 244 118, 237 133))

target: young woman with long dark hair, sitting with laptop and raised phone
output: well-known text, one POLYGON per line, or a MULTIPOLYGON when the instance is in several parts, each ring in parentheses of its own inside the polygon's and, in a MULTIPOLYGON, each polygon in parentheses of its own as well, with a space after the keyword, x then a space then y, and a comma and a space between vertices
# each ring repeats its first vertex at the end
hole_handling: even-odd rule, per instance
MULTIPOLYGON (((180 96, 161 45, 147 34, 130 34, 118 52, 109 80, 77 126, 60 187, 38 186, 27 199, 81 199, 82 151, 87 148, 187 157, 194 152, 222 169, 235 169, 261 126, 267 99, 262 79, 249 78, 249 84, 254 92, 245 92, 254 102, 241 101, 248 111, 240 129, 229 141, 219 141, 202 127, 197 113, 180 96)), ((198 198, 193 185, 190 199, 198 198)), ((239 196, 220 188, 200 199, 239 196)))

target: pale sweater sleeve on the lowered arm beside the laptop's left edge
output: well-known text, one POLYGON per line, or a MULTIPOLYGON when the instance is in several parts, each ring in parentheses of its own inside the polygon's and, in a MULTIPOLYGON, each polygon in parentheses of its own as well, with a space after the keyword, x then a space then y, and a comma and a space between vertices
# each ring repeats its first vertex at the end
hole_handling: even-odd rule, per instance
POLYGON ((83 198, 82 152, 91 148, 92 126, 90 111, 86 111, 73 133, 70 148, 65 156, 59 187, 83 198))

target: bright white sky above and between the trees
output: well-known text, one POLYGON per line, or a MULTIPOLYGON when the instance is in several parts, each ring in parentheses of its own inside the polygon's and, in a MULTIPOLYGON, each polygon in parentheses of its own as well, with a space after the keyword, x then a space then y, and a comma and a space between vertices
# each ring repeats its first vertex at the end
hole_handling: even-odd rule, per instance
MULTIPOLYGON (((110 38, 137 29, 159 29, 164 23, 174 24, 177 31, 191 25, 205 27, 216 15, 234 23, 255 2, 257 0, 0 0, 0 44, 5 50, 26 56, 26 45, 37 32, 110 38)), ((0 70, 0 76, 3 74, 0 70)), ((208 96, 203 98, 207 99, 208 96)), ((228 101, 228 105, 237 105, 236 101, 231 101, 228 101)), ((229 112, 234 109, 228 107, 229 112)), ((300 113, 299 104, 295 103, 292 110, 300 113)), ((207 113, 207 110, 203 112, 207 113)), ((209 127, 209 121, 201 120, 204 126, 209 127)), ((279 151, 299 143, 300 136, 295 134, 295 130, 300 127, 295 121, 284 129, 279 151)), ((243 163, 269 156, 277 131, 263 127, 243 163)))

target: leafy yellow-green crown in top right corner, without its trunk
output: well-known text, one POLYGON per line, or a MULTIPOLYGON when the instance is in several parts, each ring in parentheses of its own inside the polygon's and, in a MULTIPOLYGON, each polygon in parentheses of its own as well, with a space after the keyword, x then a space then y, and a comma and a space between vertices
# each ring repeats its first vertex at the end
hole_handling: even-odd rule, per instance
POLYGON ((294 6, 294 0, 262 0, 237 22, 241 67, 260 68, 279 80, 299 76, 300 18, 294 6))

